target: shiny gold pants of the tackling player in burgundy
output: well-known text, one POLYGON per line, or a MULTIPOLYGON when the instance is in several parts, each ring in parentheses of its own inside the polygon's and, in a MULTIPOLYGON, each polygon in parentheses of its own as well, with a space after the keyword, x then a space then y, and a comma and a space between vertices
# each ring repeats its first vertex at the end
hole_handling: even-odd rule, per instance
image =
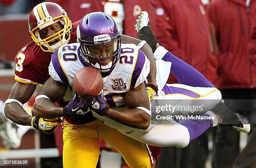
POLYGON ((79 125, 64 121, 64 168, 95 168, 100 152, 99 138, 120 152, 130 167, 151 168, 150 151, 144 143, 123 135, 98 119, 79 125))

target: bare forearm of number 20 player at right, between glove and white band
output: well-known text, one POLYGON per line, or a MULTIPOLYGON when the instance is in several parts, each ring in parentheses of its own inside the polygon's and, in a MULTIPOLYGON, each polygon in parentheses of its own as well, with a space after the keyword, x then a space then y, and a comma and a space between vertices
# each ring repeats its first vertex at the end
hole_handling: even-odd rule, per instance
POLYGON ((145 111, 136 108, 122 111, 109 109, 104 116, 118 121, 119 123, 126 126, 131 126, 139 129, 147 129, 151 119, 145 111))

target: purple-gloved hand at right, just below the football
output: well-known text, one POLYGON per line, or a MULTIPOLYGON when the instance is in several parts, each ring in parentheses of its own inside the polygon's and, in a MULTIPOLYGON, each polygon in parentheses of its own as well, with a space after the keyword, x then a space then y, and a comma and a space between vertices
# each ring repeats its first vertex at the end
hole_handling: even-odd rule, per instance
POLYGON ((103 116, 109 110, 109 106, 107 106, 106 101, 104 99, 103 90, 101 93, 92 99, 91 110, 95 113, 103 116))

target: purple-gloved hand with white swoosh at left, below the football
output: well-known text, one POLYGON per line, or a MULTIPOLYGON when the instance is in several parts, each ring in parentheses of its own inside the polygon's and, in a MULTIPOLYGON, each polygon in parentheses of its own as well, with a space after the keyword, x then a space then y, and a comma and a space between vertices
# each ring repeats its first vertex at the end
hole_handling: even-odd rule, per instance
POLYGON ((90 111, 89 104, 91 102, 92 99, 79 98, 75 93, 72 101, 69 101, 69 104, 63 108, 64 114, 69 117, 84 115, 90 111))

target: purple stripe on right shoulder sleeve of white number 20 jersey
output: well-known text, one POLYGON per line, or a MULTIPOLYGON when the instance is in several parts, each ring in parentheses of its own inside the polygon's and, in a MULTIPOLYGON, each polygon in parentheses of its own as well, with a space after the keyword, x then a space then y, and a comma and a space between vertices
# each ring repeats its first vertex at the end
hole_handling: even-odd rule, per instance
POLYGON ((135 87, 135 84, 137 82, 138 77, 141 74, 141 71, 143 69, 144 63, 145 63, 145 54, 141 51, 138 50, 138 58, 136 60, 135 68, 133 70, 133 74, 131 77, 131 86, 130 89, 133 89, 135 87))

